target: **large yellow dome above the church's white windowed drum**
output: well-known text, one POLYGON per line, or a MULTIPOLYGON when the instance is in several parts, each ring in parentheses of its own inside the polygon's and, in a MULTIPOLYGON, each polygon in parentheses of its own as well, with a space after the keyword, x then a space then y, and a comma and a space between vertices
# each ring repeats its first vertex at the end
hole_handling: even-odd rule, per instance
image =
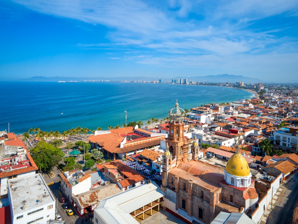
POLYGON ((238 177, 246 177, 250 174, 245 158, 237 152, 226 163, 226 172, 238 177))

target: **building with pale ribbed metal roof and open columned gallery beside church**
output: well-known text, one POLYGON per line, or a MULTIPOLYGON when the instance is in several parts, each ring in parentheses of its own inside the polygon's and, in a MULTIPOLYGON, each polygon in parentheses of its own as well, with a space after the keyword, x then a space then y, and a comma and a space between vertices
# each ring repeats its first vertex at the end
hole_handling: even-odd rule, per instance
POLYGON ((159 212, 164 193, 154 182, 146 182, 101 200, 94 209, 94 223, 137 224, 159 212))

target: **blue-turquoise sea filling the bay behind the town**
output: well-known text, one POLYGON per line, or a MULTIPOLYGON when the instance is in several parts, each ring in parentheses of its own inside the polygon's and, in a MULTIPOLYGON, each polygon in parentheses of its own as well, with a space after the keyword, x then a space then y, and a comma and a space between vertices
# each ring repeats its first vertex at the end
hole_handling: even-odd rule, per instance
POLYGON ((175 106, 188 109, 204 103, 232 102, 252 97, 245 90, 218 86, 122 82, 0 82, 0 131, 15 134, 38 127, 65 131, 80 126, 101 127, 151 117, 162 119, 175 106), (63 114, 61 114, 63 113, 63 114))

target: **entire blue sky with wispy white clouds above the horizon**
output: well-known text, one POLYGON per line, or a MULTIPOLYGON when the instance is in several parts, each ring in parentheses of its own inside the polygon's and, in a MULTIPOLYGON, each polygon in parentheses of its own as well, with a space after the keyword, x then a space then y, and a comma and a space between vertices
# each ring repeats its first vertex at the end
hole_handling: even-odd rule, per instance
POLYGON ((298 79, 297 0, 0 1, 0 78, 298 79))

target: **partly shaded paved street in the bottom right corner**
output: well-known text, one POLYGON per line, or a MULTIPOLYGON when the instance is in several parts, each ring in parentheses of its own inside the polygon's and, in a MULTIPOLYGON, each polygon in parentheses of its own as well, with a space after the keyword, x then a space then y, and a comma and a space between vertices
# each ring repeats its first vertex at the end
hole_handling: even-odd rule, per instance
POLYGON ((273 210, 271 211, 267 224, 291 224, 293 213, 298 206, 298 173, 293 174, 287 185, 284 185, 284 190, 273 210))

